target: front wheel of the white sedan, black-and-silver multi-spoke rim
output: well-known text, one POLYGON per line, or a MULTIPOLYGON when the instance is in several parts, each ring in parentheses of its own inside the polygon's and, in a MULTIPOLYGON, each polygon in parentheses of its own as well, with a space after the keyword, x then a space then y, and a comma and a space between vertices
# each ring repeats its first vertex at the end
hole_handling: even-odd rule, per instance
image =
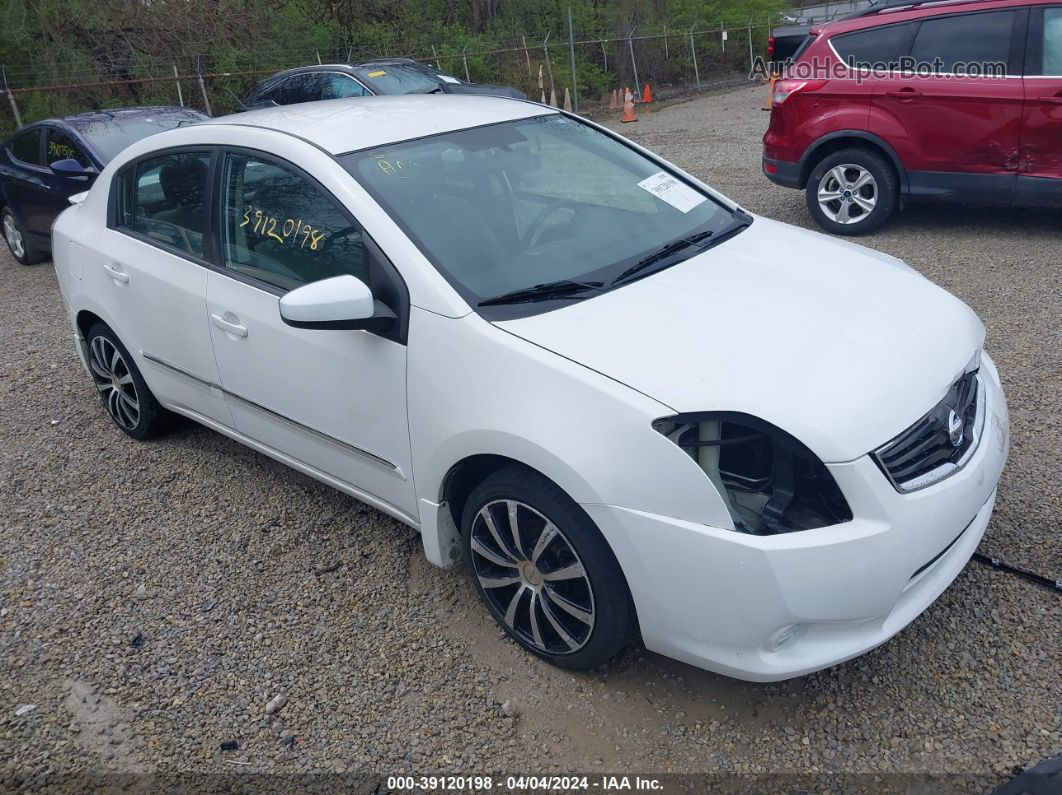
POLYGON ((546 478, 519 466, 487 476, 465 502, 461 531, 480 599, 527 651, 586 670, 631 638, 634 605, 616 556, 583 509, 546 478))

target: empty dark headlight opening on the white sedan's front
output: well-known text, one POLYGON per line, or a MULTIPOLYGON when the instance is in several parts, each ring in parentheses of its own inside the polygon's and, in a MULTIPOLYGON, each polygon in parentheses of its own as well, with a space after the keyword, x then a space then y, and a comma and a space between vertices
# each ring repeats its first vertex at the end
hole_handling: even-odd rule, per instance
POLYGON ((741 533, 793 533, 852 519, 818 456, 769 422, 719 412, 664 417, 653 428, 700 465, 741 533))

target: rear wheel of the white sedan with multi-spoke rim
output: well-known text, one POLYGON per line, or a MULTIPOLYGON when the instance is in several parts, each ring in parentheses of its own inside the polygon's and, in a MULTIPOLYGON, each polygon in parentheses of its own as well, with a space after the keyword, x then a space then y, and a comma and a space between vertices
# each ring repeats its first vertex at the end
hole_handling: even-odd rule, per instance
POLYGON ((86 342, 89 373, 110 420, 135 439, 151 438, 167 430, 173 415, 151 394, 115 332, 97 323, 88 330, 86 342))

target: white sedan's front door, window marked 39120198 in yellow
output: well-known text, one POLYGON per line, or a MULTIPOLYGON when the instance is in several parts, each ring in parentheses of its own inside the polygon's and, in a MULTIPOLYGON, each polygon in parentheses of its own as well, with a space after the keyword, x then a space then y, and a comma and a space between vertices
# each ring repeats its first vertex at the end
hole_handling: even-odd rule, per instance
POLYGON ((377 293, 381 255, 290 163, 230 152, 221 185, 222 266, 209 275, 207 316, 237 430, 415 520, 405 341, 280 318, 281 295, 331 276, 377 293))

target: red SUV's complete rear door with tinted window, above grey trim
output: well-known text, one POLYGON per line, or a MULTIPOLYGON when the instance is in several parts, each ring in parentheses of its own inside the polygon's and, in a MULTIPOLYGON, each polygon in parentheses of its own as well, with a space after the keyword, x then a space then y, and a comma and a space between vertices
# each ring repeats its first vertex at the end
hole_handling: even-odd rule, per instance
POLYGON ((912 195, 1011 201, 1026 18, 1020 8, 919 20, 906 63, 875 85, 870 132, 892 144, 912 195))

